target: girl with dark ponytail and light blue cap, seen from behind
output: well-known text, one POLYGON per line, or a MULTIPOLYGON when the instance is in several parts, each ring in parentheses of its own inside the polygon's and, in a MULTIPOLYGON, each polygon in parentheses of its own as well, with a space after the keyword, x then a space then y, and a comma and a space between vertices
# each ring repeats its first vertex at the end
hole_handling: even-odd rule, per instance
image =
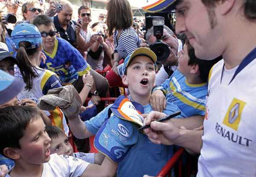
MULTIPOLYGON (((15 49, 17 50, 17 66, 15 77, 21 78, 26 87, 17 95, 21 102, 27 99, 38 103, 38 99, 47 94, 52 88, 61 87, 58 76, 52 71, 39 68, 41 60, 45 60, 42 50, 42 37, 38 28, 29 23, 16 25, 11 34, 15 49)), ((60 108, 53 111, 45 111, 51 122, 69 132, 65 117, 60 108)))

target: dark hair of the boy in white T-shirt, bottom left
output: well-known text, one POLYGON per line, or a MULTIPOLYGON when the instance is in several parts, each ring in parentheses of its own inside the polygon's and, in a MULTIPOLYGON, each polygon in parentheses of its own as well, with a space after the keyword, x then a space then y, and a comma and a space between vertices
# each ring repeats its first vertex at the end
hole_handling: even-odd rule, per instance
POLYGON ((30 106, 10 106, 0 109, 0 154, 3 149, 20 148, 20 138, 24 136, 24 131, 29 123, 37 120, 41 116, 38 108, 30 106))

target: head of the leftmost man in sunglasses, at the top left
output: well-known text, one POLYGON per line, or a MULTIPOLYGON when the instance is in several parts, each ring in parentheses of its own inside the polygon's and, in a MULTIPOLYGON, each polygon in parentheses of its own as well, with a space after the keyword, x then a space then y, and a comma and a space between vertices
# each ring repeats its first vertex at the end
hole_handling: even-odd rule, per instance
POLYGON ((32 0, 23 4, 21 11, 26 23, 29 23, 35 16, 42 14, 43 12, 37 0, 32 0))

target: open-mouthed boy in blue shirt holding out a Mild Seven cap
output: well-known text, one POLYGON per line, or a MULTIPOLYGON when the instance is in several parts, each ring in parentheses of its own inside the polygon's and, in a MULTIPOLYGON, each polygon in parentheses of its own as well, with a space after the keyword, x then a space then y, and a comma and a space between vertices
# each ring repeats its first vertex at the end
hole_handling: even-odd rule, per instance
MULTIPOLYGON (((151 143, 145 134, 137 131, 138 127, 135 124, 120 119, 120 115, 116 117, 116 112, 113 111, 119 106, 126 106, 123 110, 126 114, 133 112, 133 108, 141 113, 152 111, 149 98, 155 81, 156 60, 156 55, 150 49, 136 49, 133 54, 125 58, 123 65, 125 74, 122 76, 122 81, 129 88, 131 102, 121 96, 113 105, 108 106, 96 117, 85 123, 78 118, 69 120, 70 129, 78 138, 89 137, 98 131, 94 146, 113 161, 112 164, 110 163, 111 166, 117 166, 116 163, 118 163, 117 175, 120 177, 143 176, 143 174, 156 175, 173 155, 172 146, 151 143), (106 123, 104 123, 105 120, 107 120, 106 123), (116 126, 114 128, 109 127, 108 123, 113 123, 116 126), (109 131, 105 132, 100 128, 101 126, 109 131), (112 147, 115 145, 113 140, 115 138, 120 138, 119 140, 125 143, 125 147, 112 147), (112 151, 106 151, 102 146, 112 147, 112 151)), ((171 114, 176 111, 178 109, 175 105, 169 104, 165 113, 171 114)))

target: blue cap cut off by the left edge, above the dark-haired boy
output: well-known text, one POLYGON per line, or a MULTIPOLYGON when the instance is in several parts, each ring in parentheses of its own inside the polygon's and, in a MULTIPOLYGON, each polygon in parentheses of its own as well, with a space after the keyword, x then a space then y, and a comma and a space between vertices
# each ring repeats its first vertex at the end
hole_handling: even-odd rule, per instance
POLYGON ((23 80, 0 70, 0 104, 12 100, 24 87, 23 80))

